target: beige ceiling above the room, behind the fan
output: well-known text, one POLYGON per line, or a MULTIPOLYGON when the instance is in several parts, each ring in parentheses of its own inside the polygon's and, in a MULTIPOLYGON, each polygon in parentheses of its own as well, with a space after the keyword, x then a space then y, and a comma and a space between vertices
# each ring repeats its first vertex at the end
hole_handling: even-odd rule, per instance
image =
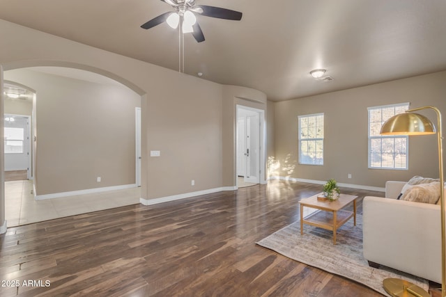
MULTIPOLYGON (((198 15, 185 72, 281 101, 446 70, 445 0, 197 0, 240 22, 198 15), (333 81, 309 75, 325 68, 333 81)), ((0 0, 0 18, 178 70, 178 32, 141 29, 160 0, 0 0)))

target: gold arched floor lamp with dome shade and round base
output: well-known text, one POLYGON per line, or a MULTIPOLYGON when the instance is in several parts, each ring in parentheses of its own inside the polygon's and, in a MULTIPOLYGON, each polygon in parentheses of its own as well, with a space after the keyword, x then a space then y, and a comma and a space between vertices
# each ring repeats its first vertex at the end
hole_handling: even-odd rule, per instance
MULTIPOLYGON (((438 136, 438 165, 440 173, 440 213, 441 213, 441 296, 446 296, 446 249, 445 249, 445 181, 443 177, 443 136, 441 134, 441 113, 433 106, 422 106, 417 109, 409 109, 406 113, 394 115, 381 127, 382 135, 426 135, 437 134, 438 136), (433 109, 437 114, 437 128, 424 115, 413 113, 422 109, 433 109)), ((384 280, 383 287, 392 296, 430 296, 422 288, 395 278, 384 280), (421 290, 421 291, 420 291, 421 290)))

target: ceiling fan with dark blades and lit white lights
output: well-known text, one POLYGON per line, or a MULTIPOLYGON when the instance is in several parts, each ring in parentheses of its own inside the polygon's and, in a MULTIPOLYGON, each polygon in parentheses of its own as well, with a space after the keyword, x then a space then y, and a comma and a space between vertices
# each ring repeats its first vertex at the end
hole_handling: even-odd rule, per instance
POLYGON ((197 17, 194 15, 195 13, 206 17, 217 17, 219 19, 231 19, 234 21, 240 21, 240 19, 242 19, 242 13, 238 11, 215 6, 195 5, 195 0, 161 1, 171 5, 175 11, 169 11, 167 13, 163 13, 162 15, 158 15, 157 17, 143 24, 141 28, 151 29, 152 27, 163 22, 167 22, 167 24, 174 29, 180 25, 180 33, 192 33, 197 42, 203 42, 203 31, 201 31, 201 27, 197 23, 197 17))

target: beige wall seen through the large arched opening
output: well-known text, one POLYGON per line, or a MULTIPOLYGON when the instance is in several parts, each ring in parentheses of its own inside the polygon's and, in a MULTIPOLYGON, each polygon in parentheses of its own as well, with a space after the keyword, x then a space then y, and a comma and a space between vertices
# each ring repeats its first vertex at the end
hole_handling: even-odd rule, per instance
POLYGON ((8 70, 4 77, 36 90, 37 195, 135 184, 135 107, 141 96, 125 86, 32 68, 8 70))

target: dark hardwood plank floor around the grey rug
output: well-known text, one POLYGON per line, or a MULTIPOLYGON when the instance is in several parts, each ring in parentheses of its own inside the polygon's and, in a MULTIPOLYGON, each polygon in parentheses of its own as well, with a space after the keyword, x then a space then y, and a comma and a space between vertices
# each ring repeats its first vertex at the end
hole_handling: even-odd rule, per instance
MULTIPOLYGON (((300 198, 320 191, 272 181, 12 227, 1 236, 0 274, 20 286, 0 296, 381 296, 256 246, 299 220, 300 198)), ((383 196, 341 191, 360 196, 359 213, 364 195, 383 196)))

